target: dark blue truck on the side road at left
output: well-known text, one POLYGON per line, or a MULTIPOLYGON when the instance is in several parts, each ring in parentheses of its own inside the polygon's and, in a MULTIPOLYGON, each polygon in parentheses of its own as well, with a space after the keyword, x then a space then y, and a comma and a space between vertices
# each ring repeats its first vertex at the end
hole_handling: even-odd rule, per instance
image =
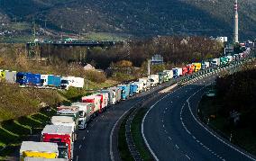
POLYGON ((38 86, 41 85, 41 75, 26 72, 18 72, 16 75, 16 83, 20 85, 38 86))

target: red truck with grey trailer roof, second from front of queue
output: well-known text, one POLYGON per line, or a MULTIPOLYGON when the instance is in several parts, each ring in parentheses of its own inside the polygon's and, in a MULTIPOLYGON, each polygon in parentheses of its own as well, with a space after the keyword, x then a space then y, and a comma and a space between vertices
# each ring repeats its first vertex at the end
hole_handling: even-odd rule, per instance
POLYGON ((41 142, 57 143, 59 158, 73 159, 74 133, 71 126, 46 125, 41 131, 41 142))

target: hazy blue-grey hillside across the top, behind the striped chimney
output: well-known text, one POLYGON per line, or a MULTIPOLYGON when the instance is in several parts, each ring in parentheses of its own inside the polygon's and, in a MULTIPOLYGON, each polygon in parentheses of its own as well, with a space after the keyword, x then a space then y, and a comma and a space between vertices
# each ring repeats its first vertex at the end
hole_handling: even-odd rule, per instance
MULTIPOLYGON (((73 33, 231 36, 233 0, 1 0, 8 20, 73 33)), ((256 36, 256 1, 239 1, 242 38, 256 36)), ((1 14, 0 14, 1 16, 1 14)), ((1 16, 3 17, 3 16, 1 16)), ((1 21, 1 19, 0 19, 1 21)))

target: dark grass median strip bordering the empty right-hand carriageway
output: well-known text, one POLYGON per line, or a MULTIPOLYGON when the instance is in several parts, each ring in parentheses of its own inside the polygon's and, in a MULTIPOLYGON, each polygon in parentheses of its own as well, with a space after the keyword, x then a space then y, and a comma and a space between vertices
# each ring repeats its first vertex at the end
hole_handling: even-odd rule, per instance
POLYGON ((133 122, 132 122, 132 127, 131 127, 131 132, 133 136, 133 141, 134 144, 140 153, 142 160, 154 160, 151 157, 151 153, 148 150, 148 148, 145 146, 144 139, 142 138, 142 120, 145 115, 145 113, 148 111, 147 108, 141 108, 134 116, 133 122))

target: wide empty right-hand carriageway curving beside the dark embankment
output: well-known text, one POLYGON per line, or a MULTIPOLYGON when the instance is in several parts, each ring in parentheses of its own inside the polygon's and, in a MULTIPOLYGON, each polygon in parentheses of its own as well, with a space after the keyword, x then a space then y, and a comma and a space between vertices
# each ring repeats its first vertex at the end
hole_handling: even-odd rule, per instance
POLYGON ((255 160, 206 129, 197 118, 204 86, 212 80, 213 77, 207 77, 180 87, 152 106, 142 132, 156 160, 255 160))

